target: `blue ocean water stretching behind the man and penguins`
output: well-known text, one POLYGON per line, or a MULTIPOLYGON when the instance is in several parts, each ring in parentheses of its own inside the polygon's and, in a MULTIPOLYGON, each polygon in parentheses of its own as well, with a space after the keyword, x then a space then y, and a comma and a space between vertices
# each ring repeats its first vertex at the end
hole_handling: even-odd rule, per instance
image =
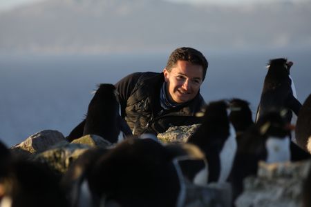
MULTIPOLYGON (((249 101, 253 114, 269 59, 287 57, 299 101, 311 93, 311 49, 203 51, 209 61, 200 92, 205 101, 249 101)), ((13 146, 41 130, 68 135, 84 118, 98 83, 131 72, 161 72, 167 54, 0 55, 0 139, 13 146)))

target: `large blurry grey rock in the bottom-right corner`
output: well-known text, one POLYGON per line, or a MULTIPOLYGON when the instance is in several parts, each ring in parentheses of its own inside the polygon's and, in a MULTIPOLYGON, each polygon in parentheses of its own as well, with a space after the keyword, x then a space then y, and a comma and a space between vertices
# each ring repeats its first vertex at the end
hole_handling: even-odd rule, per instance
POLYGON ((311 161, 278 164, 259 163, 257 177, 244 180, 244 192, 236 199, 236 207, 302 206, 303 181, 311 161))

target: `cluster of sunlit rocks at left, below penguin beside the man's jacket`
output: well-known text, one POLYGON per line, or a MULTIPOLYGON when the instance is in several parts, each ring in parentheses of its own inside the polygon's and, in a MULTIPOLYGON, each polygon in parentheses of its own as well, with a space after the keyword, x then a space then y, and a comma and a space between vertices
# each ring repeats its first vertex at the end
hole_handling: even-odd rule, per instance
POLYGON ((61 132, 43 130, 10 149, 14 155, 26 156, 46 164, 62 175, 70 164, 90 148, 109 148, 112 144, 97 135, 85 135, 69 143, 61 132))

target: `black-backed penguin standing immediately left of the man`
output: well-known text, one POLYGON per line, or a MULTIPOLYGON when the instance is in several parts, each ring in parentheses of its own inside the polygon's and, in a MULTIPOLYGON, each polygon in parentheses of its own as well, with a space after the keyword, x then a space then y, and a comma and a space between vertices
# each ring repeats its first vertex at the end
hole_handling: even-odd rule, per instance
POLYGON ((111 143, 132 135, 126 121, 120 116, 120 103, 117 100, 115 86, 112 84, 103 83, 98 86, 93 99, 88 104, 86 118, 70 132, 66 139, 73 141, 84 135, 98 135, 111 143))

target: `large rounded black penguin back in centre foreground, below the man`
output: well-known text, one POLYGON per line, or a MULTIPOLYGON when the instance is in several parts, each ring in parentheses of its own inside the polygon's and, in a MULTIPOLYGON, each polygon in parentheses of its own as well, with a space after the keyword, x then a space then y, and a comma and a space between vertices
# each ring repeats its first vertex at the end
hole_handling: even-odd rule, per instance
POLYGON ((152 139, 117 144, 97 161, 89 184, 105 203, 121 206, 176 206, 180 190, 169 153, 152 139))

